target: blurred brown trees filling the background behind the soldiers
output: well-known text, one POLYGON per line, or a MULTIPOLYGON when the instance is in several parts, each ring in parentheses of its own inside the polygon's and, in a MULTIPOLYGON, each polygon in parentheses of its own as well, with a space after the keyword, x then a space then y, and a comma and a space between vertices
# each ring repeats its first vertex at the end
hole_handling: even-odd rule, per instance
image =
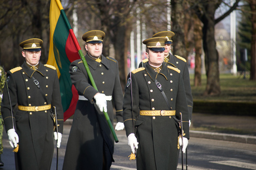
MULTIPOLYGON (((194 73, 194 85, 200 86, 201 74, 206 74, 204 95, 219 95, 220 73, 230 73, 232 68, 232 41, 229 27, 222 21, 237 10, 239 23, 237 34, 238 74, 250 71, 250 79, 256 79, 256 0, 62 0, 62 6, 76 37, 86 54, 82 34, 92 29, 106 33, 105 56, 119 61, 122 87, 131 71, 131 47, 134 46, 135 65, 145 57, 142 40, 170 29, 173 37, 172 53, 187 59, 189 70, 194 73), (170 9, 170 12, 168 11, 170 9), (168 13, 170 17, 168 18, 168 13), (77 24, 73 23, 77 16, 77 24), (139 50, 137 50, 139 49, 139 50), (244 49, 247 49, 245 61, 244 49), (242 51, 242 52, 240 52, 242 51), (241 58, 243 56, 243 58, 241 58)), ((42 63, 46 63, 49 50, 50 0, 0 0, 0 61, 6 70, 23 63, 19 43, 28 38, 43 39, 42 63)), ((227 22, 227 19, 225 19, 227 22)), ((137 68, 135 66, 135 68, 137 68)))

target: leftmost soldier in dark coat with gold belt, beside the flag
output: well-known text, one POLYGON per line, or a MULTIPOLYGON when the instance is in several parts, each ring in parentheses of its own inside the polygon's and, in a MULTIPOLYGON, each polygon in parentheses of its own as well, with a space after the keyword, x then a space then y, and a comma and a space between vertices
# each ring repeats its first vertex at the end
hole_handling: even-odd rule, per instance
POLYGON ((54 120, 51 109, 57 110, 60 147, 63 131, 63 110, 56 68, 43 65, 41 39, 28 39, 19 44, 25 62, 7 72, 1 112, 9 143, 17 147, 16 169, 50 169, 53 157, 54 120), (37 84, 37 85, 36 85, 37 84), (40 88, 39 88, 39 86, 40 88), (11 102, 10 102, 10 100, 11 102), (11 104, 10 104, 11 103, 11 104), (18 105, 16 112, 14 106, 18 105))

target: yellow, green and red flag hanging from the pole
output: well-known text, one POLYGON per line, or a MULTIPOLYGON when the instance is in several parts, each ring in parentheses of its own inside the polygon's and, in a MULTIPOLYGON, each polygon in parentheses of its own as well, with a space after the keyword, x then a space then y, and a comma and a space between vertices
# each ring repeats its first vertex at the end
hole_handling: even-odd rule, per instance
POLYGON ((64 121, 74 114, 78 100, 77 90, 71 83, 69 73, 70 63, 80 59, 78 50, 81 48, 77 39, 74 38, 75 34, 60 0, 52 0, 50 7, 50 50, 47 64, 53 65, 57 69, 64 121))

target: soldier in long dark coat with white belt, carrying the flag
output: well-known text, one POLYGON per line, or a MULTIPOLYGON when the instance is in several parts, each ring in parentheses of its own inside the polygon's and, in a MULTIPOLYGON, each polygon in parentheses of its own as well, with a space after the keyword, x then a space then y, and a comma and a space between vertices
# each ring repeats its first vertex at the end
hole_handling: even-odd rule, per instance
POLYGON ((75 85, 79 100, 68 137, 63 169, 110 169, 114 153, 114 138, 107 125, 103 110, 113 124, 116 109, 116 130, 123 130, 122 87, 119 67, 115 59, 102 55, 102 41, 105 33, 91 30, 83 34, 87 54, 85 59, 98 90, 88 78, 81 59, 70 65, 72 84, 75 85))

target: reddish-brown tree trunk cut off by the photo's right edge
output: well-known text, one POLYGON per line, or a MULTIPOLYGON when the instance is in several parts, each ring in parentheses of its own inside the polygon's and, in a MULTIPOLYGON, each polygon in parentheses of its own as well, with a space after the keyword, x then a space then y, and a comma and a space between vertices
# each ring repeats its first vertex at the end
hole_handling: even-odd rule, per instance
POLYGON ((252 10, 252 48, 250 62, 250 80, 256 80, 256 0, 250 1, 252 10))

